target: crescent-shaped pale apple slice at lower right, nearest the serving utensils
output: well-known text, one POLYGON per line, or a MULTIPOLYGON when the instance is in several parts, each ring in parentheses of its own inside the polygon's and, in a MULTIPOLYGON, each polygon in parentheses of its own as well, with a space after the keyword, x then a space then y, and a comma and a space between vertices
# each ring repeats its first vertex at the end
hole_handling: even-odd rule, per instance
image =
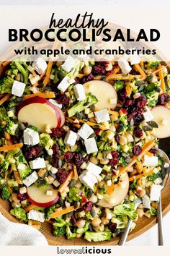
POLYGON ((129 189, 129 177, 128 174, 121 175, 121 182, 117 184, 111 195, 105 194, 102 200, 98 202, 99 206, 104 208, 113 208, 115 205, 119 205, 122 200, 125 199, 129 189))

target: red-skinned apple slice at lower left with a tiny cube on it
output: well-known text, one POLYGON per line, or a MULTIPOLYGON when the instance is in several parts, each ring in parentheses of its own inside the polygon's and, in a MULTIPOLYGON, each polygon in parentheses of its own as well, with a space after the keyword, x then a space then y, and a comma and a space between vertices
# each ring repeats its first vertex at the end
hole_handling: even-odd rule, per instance
POLYGON ((40 207, 54 205, 59 199, 58 190, 53 189, 52 185, 48 185, 46 189, 39 189, 35 185, 27 187, 27 197, 32 204, 40 207), (46 195, 47 190, 53 191, 53 195, 46 195))

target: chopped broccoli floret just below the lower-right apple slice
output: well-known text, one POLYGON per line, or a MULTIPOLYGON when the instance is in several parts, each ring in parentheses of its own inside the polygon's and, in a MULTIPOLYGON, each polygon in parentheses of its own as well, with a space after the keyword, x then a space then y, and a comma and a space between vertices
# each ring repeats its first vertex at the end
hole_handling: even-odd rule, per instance
POLYGON ((117 216, 128 216, 130 219, 133 220, 137 217, 137 213, 134 207, 134 202, 130 202, 129 204, 117 205, 114 208, 114 213, 117 216))

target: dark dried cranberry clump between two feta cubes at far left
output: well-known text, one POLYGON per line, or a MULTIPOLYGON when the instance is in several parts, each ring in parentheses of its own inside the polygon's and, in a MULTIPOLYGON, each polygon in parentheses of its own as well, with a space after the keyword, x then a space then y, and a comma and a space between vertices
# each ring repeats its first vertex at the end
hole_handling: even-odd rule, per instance
POLYGON ((40 156, 42 150, 42 146, 39 145, 35 145, 32 147, 24 146, 22 152, 27 161, 32 161, 40 156))

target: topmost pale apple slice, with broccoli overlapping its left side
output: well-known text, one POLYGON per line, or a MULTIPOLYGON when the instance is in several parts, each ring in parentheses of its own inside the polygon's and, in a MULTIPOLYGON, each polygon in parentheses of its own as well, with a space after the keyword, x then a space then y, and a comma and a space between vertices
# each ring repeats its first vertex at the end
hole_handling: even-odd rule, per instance
POLYGON ((109 82, 89 81, 84 84, 85 93, 92 93, 98 99, 95 104, 99 110, 105 108, 115 108, 117 105, 117 92, 109 82))

